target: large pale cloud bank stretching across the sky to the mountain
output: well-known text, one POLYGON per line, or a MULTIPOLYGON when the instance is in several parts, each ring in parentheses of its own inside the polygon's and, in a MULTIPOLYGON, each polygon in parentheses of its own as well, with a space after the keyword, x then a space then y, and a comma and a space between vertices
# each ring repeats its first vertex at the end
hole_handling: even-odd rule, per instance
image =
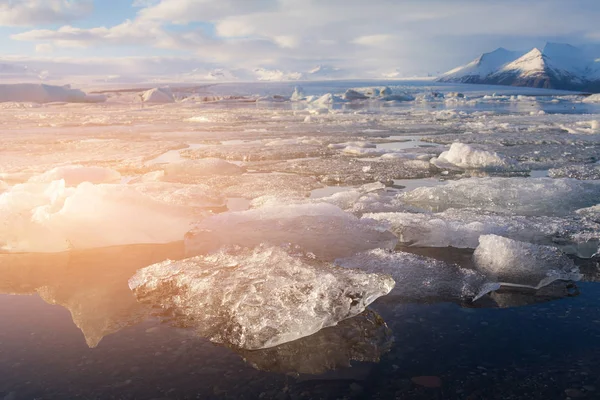
POLYGON ((516 43, 526 50, 546 37, 600 40, 597 0, 135 0, 133 5, 140 8, 135 18, 114 26, 66 25, 12 38, 56 47, 172 49, 230 69, 352 66, 365 76, 443 71, 495 47, 516 43), (196 23, 214 26, 214 32, 207 34, 196 23))

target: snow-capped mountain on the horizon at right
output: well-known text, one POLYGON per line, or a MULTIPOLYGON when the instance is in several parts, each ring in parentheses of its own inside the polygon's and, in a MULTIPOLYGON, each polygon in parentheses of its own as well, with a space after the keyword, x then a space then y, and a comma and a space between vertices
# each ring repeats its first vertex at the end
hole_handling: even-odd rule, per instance
POLYGON ((527 53, 499 48, 446 72, 438 81, 598 93, 600 58, 595 50, 563 43, 547 43, 527 53))

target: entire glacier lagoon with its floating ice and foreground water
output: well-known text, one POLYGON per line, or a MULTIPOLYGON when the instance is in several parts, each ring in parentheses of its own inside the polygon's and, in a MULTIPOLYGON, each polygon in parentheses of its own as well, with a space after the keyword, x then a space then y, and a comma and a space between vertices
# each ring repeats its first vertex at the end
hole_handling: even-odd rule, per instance
POLYGON ((593 398, 600 104, 295 85, 0 103, 0 394, 593 398))

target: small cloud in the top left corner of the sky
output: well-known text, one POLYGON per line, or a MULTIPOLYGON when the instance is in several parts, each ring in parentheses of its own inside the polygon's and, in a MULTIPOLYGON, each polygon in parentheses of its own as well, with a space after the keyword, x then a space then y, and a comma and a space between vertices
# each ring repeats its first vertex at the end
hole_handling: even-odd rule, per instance
POLYGON ((92 10, 92 0, 0 0, 0 26, 65 23, 92 10))

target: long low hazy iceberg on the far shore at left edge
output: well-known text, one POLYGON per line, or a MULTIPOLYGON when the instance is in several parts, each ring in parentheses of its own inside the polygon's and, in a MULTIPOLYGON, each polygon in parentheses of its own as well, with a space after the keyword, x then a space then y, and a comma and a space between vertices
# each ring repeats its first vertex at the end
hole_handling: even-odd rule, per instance
POLYGON ((70 86, 52 86, 38 83, 0 84, 0 103, 15 102, 68 102, 98 103, 106 100, 102 95, 87 95, 70 86))

